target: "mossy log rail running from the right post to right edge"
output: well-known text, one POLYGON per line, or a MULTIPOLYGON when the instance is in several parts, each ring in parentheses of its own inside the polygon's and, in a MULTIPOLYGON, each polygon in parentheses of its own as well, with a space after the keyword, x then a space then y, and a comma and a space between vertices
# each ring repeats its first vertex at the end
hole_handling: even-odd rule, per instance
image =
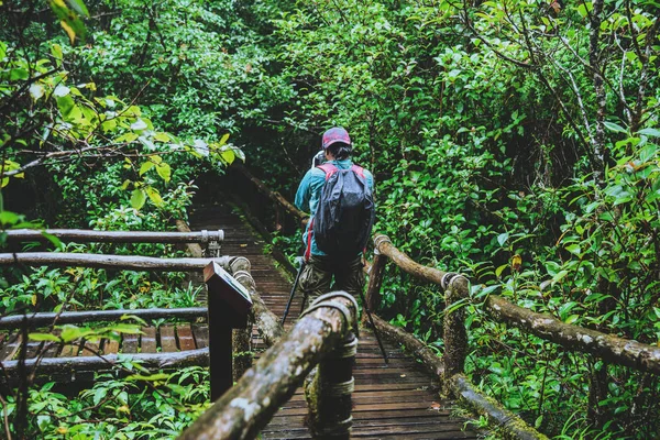
POLYGON ((660 348, 569 324, 536 314, 506 299, 491 295, 484 307, 496 320, 504 321, 566 350, 591 353, 605 361, 635 370, 660 374, 660 348))

